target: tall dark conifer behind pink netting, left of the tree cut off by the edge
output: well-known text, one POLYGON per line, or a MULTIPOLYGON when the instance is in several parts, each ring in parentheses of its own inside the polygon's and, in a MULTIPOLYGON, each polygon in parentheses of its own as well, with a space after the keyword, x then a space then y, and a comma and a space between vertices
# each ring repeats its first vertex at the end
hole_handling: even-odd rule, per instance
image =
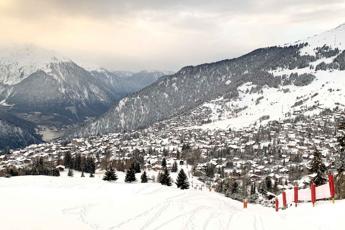
POLYGON ((314 158, 310 162, 310 167, 311 169, 309 169, 309 173, 316 173, 316 176, 312 178, 311 183, 315 183, 316 186, 325 184, 325 173, 327 171, 327 168, 325 164, 322 162, 321 153, 316 148, 314 151, 314 158))

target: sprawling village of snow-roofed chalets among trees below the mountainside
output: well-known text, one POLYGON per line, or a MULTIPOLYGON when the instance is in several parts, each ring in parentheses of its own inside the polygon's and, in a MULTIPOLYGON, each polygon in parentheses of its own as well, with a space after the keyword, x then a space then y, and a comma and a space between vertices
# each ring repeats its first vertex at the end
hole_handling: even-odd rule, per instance
MULTIPOLYGON (((264 125, 259 120, 232 130, 190 128, 207 120, 202 115, 208 116, 205 111, 192 114, 155 123, 146 130, 7 149, 0 156, 0 169, 10 176, 55 174, 52 169, 103 176, 110 168, 127 172, 135 164, 136 173, 146 171, 150 182, 159 182, 164 168, 169 172, 184 168, 195 189, 211 187, 226 197, 273 207, 273 202, 264 201, 282 189, 295 184, 309 187, 316 176, 309 172, 316 152, 328 170, 339 164, 337 137, 345 133, 338 129, 343 110, 328 109, 312 117, 301 113, 264 125)), ((339 192, 338 196, 345 196, 345 191, 339 192)))

